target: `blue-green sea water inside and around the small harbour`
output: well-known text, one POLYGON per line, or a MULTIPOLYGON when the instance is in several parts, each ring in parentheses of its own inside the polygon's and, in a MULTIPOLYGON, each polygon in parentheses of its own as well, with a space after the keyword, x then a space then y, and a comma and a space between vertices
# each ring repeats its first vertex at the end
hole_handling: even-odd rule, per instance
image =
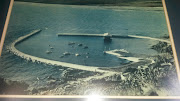
POLYGON ((163 7, 85 6, 15 1, 0 58, 1 77, 24 81, 31 86, 46 85, 44 78, 47 76, 62 77, 61 67, 26 61, 7 49, 17 38, 36 29, 42 31, 17 44, 16 48, 19 51, 49 60, 103 68, 127 63, 127 60, 104 54, 104 51, 123 49, 137 56, 153 56, 157 55, 157 52, 151 49, 151 46, 158 41, 112 38, 111 41, 105 42, 103 37, 57 36, 57 34, 109 33, 153 38, 168 35, 163 7), (84 49, 84 46, 88 48, 84 49), (47 51, 52 53, 47 54, 47 51), (70 55, 64 56, 65 52, 70 55), (42 79, 41 83, 36 82, 37 77, 42 79))

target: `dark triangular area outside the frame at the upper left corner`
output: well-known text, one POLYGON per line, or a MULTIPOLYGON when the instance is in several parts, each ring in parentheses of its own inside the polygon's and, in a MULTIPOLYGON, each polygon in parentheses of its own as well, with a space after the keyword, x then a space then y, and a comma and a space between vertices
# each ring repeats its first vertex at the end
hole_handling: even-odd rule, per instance
POLYGON ((7 11, 9 8, 9 3, 10 3, 10 0, 0 0, 0 38, 2 36, 4 23, 5 23, 7 11))

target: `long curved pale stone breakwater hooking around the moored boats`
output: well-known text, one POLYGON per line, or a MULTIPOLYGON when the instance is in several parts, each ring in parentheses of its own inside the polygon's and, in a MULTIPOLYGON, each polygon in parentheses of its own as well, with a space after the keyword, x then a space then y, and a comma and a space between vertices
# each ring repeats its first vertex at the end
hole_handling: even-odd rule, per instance
POLYGON ((22 36, 15 40, 10 47, 8 48, 13 54, 26 59, 27 61, 32 61, 32 62, 39 62, 39 63, 44 63, 48 65, 54 65, 54 66, 63 66, 63 67, 69 67, 69 68, 74 68, 74 69, 79 69, 79 70, 86 70, 86 71, 93 71, 93 72, 109 72, 105 70, 98 69, 99 67, 94 67, 94 66, 83 66, 83 65, 78 65, 78 64, 72 64, 72 63, 66 63, 66 62, 60 62, 60 61, 55 61, 55 60, 49 60, 49 59, 44 59, 32 55, 28 55, 26 53, 23 53, 19 50, 16 49, 16 45, 20 42, 23 42, 24 40, 30 38, 31 36, 34 36, 38 33, 40 33, 41 30, 34 30, 28 35, 22 36))

